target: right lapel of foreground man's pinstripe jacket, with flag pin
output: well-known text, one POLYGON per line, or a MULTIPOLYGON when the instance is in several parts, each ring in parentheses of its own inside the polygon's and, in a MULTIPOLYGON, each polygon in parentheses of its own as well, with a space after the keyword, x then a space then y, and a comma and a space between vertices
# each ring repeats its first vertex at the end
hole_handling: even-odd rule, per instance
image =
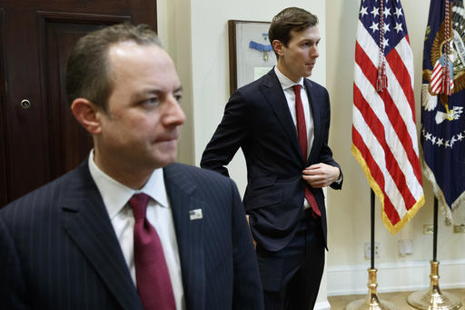
POLYGON ((203 208, 204 203, 193 196, 195 185, 183 174, 183 165, 164 167, 163 175, 173 210, 186 308, 200 310, 204 308, 206 294, 203 218, 196 218, 198 216, 195 215, 198 215, 199 209, 202 210, 203 216, 207 215, 207 211, 203 208))

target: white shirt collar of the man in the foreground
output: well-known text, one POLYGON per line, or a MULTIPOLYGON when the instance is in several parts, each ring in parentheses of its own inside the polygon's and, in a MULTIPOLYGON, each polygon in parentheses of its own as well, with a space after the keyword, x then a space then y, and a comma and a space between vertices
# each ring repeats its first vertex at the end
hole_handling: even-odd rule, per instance
POLYGON ((144 193, 150 195, 153 200, 163 207, 169 207, 168 197, 164 186, 163 168, 153 170, 152 175, 139 190, 134 190, 106 175, 94 162, 94 149, 89 154, 89 170, 94 178, 95 185, 102 195, 104 205, 110 219, 127 204, 134 194, 144 193))

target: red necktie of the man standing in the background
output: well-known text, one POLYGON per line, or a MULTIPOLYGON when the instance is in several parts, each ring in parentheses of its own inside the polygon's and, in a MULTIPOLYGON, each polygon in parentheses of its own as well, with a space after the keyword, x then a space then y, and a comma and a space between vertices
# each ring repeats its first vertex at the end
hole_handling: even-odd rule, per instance
MULTIPOLYGON (((307 162, 307 126, 305 125, 305 115, 303 114, 303 105, 301 98, 301 85, 293 85, 295 94, 295 115, 297 118, 297 134, 299 135, 299 145, 301 145, 303 163, 307 162)), ((320 208, 316 202, 315 196, 309 188, 309 185, 305 186, 305 198, 312 206, 313 215, 322 216, 320 208)))

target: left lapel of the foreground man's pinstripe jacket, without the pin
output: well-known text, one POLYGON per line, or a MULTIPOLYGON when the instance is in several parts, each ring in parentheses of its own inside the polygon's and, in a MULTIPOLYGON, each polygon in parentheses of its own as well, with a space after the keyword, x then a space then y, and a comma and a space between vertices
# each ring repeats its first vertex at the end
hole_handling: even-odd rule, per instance
POLYGON ((94 266, 108 290, 124 309, 141 309, 104 202, 90 175, 87 161, 76 170, 62 209, 65 231, 94 266))

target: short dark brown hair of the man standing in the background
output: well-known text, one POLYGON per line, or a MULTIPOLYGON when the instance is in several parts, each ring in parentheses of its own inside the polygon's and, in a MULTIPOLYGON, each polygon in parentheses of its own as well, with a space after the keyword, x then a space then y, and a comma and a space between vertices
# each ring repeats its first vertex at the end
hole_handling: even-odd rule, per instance
POLYGON ((284 46, 291 40, 291 31, 302 31, 318 24, 318 17, 299 7, 288 7, 272 18, 268 38, 281 41, 284 46))

